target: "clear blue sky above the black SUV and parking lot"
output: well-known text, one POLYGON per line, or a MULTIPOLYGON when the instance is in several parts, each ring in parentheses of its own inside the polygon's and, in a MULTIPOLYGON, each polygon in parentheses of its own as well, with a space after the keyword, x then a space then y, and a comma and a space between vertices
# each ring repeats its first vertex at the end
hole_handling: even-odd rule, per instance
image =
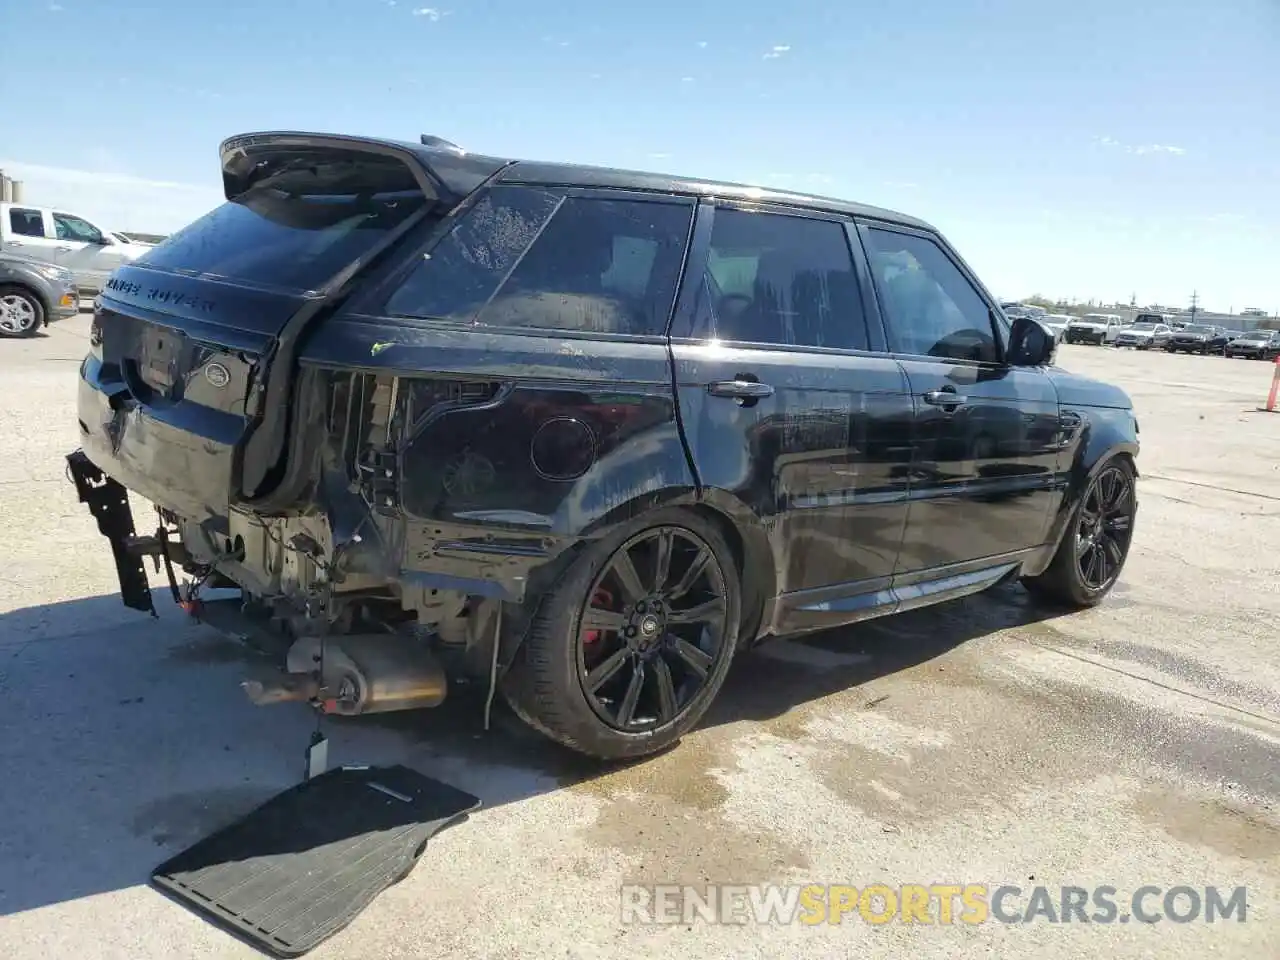
POLYGON ((0 28, 0 166, 108 228, 215 205, 233 133, 431 132, 905 210, 1000 296, 1280 308, 1280 0, 8 0, 0 28))

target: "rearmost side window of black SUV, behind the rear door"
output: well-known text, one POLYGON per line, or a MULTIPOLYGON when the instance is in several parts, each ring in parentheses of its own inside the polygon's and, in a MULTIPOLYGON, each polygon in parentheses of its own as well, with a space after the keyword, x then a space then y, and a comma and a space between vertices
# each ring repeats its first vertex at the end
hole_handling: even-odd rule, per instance
POLYGON ((692 204, 495 187, 424 257, 387 312, 660 335, 691 220, 692 204))

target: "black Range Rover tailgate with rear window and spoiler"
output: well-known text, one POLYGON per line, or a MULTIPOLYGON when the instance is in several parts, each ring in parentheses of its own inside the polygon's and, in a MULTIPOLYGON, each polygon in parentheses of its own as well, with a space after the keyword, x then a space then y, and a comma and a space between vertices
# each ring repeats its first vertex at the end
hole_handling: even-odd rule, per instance
POLYGON ((262 492, 283 443, 248 484, 246 447, 283 436, 301 328, 447 209, 422 157, 381 142, 228 141, 223 175, 225 204, 108 280, 78 397, 88 458, 191 518, 262 492))

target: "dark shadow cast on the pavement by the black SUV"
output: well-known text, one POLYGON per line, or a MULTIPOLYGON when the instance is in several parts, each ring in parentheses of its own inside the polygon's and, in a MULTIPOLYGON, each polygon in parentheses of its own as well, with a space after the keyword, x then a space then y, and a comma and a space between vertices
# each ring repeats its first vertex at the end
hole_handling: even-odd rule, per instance
MULTIPOLYGON (((735 664, 703 728, 781 717, 1046 616, 1011 586, 777 641, 788 649, 735 664)), ((0 614, 0 916, 146 883, 301 778, 317 716, 251 705, 239 680, 255 657, 177 608, 152 620, 116 595, 0 614)), ((325 719, 330 764, 403 763, 485 808, 617 772, 545 741, 500 700, 485 732, 484 694, 466 685, 435 710, 325 719)))

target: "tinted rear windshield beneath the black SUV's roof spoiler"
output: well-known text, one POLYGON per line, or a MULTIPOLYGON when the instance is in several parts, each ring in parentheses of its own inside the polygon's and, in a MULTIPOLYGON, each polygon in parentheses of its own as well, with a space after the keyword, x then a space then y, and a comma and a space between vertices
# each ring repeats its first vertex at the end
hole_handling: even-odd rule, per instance
POLYGON ((312 292, 429 202, 398 160, 334 150, 279 159, 138 262, 312 292))

